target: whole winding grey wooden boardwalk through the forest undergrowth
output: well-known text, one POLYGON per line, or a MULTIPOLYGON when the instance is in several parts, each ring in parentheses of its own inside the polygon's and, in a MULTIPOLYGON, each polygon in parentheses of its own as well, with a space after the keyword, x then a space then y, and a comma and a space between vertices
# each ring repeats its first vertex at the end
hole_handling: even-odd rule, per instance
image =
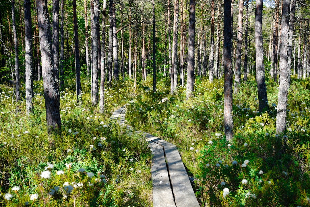
MULTIPOLYGON (((125 124, 126 105, 114 111, 110 119, 132 133, 139 133, 125 124)), ((199 207, 187 172, 176 146, 149 133, 142 133, 151 148, 153 207, 199 207)))

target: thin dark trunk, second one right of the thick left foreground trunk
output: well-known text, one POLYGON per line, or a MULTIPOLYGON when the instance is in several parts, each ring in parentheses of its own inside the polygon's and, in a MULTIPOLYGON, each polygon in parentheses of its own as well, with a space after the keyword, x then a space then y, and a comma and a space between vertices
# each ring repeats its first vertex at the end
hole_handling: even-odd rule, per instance
POLYGON ((60 3, 60 84, 59 88, 64 88, 64 0, 60 3))

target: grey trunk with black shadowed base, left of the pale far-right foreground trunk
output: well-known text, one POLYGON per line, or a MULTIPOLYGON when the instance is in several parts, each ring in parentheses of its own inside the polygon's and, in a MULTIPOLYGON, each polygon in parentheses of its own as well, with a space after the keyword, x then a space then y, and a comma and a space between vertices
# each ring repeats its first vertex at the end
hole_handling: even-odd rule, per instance
POLYGON ((262 20, 263 20, 263 1, 256 0, 255 10, 255 62, 256 62, 256 83, 257 93, 259 99, 259 111, 268 109, 267 90, 265 83, 265 70, 263 62, 263 34, 262 34, 262 20))

